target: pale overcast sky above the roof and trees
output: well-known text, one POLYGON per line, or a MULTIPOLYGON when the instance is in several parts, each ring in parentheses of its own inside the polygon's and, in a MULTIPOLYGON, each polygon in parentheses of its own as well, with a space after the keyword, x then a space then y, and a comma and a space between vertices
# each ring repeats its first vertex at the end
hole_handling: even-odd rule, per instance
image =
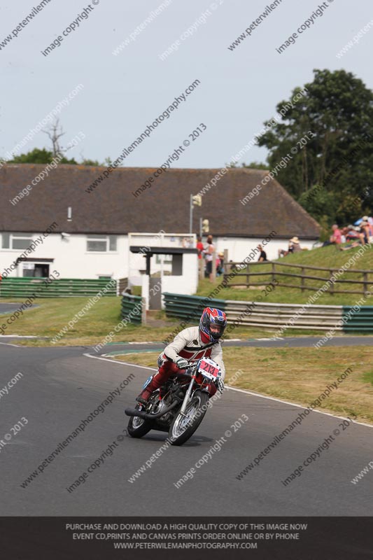
MULTIPOLYGON (((0 45, 39 2, 1 2, 0 45)), ((274 116, 281 99, 312 80, 315 68, 352 71, 373 88, 373 23, 342 59, 336 57, 373 20, 371 0, 325 0, 323 16, 314 17, 295 44, 279 54, 276 48, 322 4, 282 0, 251 36, 229 50, 270 3, 92 0, 87 8, 84 0, 50 0, 0 50, 0 155, 79 84, 83 88, 60 114, 66 132, 62 144, 83 132, 85 138, 69 151, 69 157, 103 161, 106 156, 117 158, 175 97, 200 80, 185 102, 128 155, 124 165, 130 167, 158 167, 200 123, 206 130, 172 167, 222 167, 260 131, 264 120, 274 116), (169 5, 150 16, 162 3, 169 5), (63 36, 84 8, 90 10, 87 19, 80 18, 79 27, 63 36), (146 18, 153 19, 146 22, 146 18), (135 40, 113 55, 142 22, 144 29, 135 40), (192 35, 181 40, 193 24, 192 35), (63 36, 61 45, 44 56, 41 51, 58 36, 63 36), (178 50, 160 59, 176 41, 178 50)), ((43 146, 48 146, 48 137, 39 132, 24 151, 43 146)), ((266 155, 265 148, 254 146, 242 161, 264 161, 266 155)))

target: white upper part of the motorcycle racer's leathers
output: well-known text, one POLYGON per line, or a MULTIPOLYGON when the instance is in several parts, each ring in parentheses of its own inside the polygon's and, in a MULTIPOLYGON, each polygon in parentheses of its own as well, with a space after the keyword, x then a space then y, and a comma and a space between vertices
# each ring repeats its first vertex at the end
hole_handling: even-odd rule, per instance
POLYGON ((189 327, 181 330, 173 342, 168 344, 158 358, 158 367, 167 361, 167 358, 176 363, 178 358, 185 358, 188 362, 195 362, 200 358, 211 358, 220 365, 221 377, 225 378, 223 362, 223 349, 221 341, 204 344, 201 339, 199 327, 189 327))

